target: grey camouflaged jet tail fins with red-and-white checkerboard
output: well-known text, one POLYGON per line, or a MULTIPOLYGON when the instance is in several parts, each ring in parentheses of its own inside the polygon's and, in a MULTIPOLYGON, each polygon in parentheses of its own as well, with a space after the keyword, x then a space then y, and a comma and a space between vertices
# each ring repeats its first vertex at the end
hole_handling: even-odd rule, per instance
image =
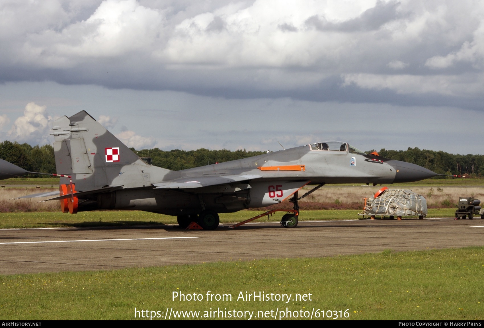
MULTIPOLYGON (((72 175, 78 191, 149 186, 151 178, 163 179, 172 172, 144 163, 85 111, 57 119, 52 130, 57 173, 72 175)), ((63 179, 61 184, 67 182, 63 179)))

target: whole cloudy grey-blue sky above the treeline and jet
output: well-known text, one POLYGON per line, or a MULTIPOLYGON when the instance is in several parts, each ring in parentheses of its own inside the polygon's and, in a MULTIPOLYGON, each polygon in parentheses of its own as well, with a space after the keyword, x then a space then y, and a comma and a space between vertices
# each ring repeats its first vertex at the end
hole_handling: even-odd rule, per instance
POLYGON ((0 139, 482 154, 484 2, 1 0, 0 139))

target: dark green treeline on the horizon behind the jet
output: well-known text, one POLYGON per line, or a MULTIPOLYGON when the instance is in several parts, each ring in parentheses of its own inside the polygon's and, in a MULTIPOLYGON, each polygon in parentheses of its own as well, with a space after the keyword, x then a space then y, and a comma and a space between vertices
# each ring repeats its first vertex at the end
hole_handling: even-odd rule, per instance
MULTIPOLYGON (((264 151, 222 150, 133 150, 140 157, 151 157, 152 164, 170 170, 179 171, 187 168, 222 163, 264 154, 264 151)), ((368 152, 372 152, 370 150, 368 152)), ((418 148, 407 150, 380 149, 382 157, 417 164, 439 174, 467 174, 470 177, 484 176, 484 155, 454 155, 444 151, 418 148)), ((55 173, 54 149, 51 145, 30 146, 27 143, 3 141, 0 143, 0 158, 18 165, 28 171, 55 173)))

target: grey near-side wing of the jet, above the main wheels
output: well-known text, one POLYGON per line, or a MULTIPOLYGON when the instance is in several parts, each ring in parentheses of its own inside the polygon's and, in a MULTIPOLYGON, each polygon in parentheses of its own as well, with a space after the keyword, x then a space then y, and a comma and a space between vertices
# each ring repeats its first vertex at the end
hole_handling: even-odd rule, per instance
POLYGON ((218 184, 233 183, 252 179, 259 179, 262 176, 246 174, 242 176, 222 176, 222 177, 192 177, 175 179, 166 182, 153 183, 156 189, 188 189, 215 186, 218 184))

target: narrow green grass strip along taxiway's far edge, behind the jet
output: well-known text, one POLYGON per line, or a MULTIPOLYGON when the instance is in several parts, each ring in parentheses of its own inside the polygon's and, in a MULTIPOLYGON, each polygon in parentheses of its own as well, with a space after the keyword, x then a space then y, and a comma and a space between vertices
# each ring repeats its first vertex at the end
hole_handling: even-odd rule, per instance
MULTIPOLYGON (((302 210, 299 219, 310 220, 355 220, 362 210, 302 210)), ((427 218, 454 217, 455 209, 429 209, 427 218)), ((237 223, 247 220, 263 211, 242 210, 235 213, 221 213, 221 223, 237 223)), ((269 221, 280 221, 285 212, 276 212, 269 221)), ((267 217, 257 222, 268 221, 267 217)), ((61 212, 14 212, 0 213, 0 228, 81 227, 108 225, 176 224, 174 216, 143 211, 91 211, 77 214, 61 212)))

